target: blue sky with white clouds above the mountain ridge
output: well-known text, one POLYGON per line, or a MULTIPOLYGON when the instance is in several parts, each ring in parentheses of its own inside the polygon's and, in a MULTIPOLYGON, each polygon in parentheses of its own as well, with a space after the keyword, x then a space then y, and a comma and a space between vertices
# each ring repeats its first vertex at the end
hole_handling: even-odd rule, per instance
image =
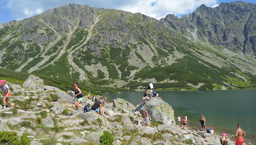
MULTIPOLYGON (((256 0, 241 0, 256 3, 256 0)), ((97 8, 118 9, 162 18, 167 14, 189 14, 201 4, 215 7, 234 0, 0 0, 0 23, 28 18, 69 3, 87 4, 97 8)))

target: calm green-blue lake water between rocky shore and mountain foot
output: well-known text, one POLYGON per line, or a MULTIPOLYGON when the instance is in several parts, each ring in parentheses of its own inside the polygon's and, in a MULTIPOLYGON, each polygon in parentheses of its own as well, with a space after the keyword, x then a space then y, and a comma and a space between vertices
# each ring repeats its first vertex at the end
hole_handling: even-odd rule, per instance
MULTIPOLYGON (((189 123, 193 127, 200 127, 199 120, 203 114, 207 119, 206 125, 213 126, 219 133, 227 132, 232 135, 235 133, 236 124, 240 123, 251 139, 255 139, 256 90, 158 91, 157 93, 172 106, 175 117, 177 115, 183 117, 187 114, 189 123)), ((119 97, 136 106, 142 101, 143 91, 102 95, 110 102, 113 97, 119 97)))

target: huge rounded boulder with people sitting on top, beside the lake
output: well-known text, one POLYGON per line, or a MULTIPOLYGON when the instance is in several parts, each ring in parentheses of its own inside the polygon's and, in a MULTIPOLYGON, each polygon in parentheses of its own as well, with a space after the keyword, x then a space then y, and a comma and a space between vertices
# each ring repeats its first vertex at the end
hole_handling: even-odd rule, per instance
POLYGON ((139 111, 143 114, 143 111, 140 109, 142 107, 145 107, 150 114, 150 120, 175 126, 174 109, 172 109, 172 107, 162 99, 153 98, 153 100, 148 101, 145 104, 142 102, 138 104, 135 111, 139 111))

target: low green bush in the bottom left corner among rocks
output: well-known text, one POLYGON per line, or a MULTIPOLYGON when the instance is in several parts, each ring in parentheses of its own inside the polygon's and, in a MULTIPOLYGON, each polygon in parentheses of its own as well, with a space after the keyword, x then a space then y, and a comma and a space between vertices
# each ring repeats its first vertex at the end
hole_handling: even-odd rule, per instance
POLYGON ((28 145, 30 140, 27 135, 22 135, 21 138, 17 136, 15 132, 2 131, 0 132, 0 142, 4 144, 13 144, 13 145, 28 145))

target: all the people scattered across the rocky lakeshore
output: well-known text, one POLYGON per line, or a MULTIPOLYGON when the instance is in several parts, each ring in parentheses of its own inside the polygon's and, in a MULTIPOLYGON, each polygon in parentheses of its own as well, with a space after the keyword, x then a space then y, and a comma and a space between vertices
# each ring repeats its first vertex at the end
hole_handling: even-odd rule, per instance
MULTIPOLYGON (((78 84, 74 84, 75 87, 75 96, 74 96, 74 100, 75 101, 75 109, 78 110, 78 107, 80 108, 84 108, 84 111, 95 111, 96 113, 98 113, 99 115, 103 116, 102 113, 102 106, 105 103, 105 99, 104 98, 99 98, 97 96, 93 96, 88 97, 89 99, 92 99, 92 101, 94 101, 93 106, 91 107, 91 109, 88 107, 89 104, 87 104, 85 107, 81 106, 81 101, 82 101, 82 97, 85 95, 82 90, 78 87, 78 84), (87 109, 88 108, 88 109, 87 109)), ((8 84, 6 83, 5 80, 1 80, 0 81, 0 89, 2 89, 4 91, 4 98, 3 98, 3 108, 6 108, 6 103, 10 104, 11 108, 14 108, 15 103, 11 103, 9 100, 9 98, 11 97, 11 91, 9 89, 8 84)), ((153 97, 156 98, 161 98, 158 97, 158 94, 156 93, 156 90, 153 91, 153 84, 151 82, 149 82, 149 87, 148 90, 145 91, 144 96, 143 96, 143 103, 146 103, 146 101, 151 101, 153 97)), ((113 99, 113 107, 116 108, 116 97, 114 97, 113 99)), ((162 98, 161 98, 162 99, 162 98)), ((127 108, 130 108, 130 104, 127 103, 126 104, 127 108)), ((143 126, 149 126, 149 113, 148 111, 142 107, 141 110, 143 111, 143 126)), ((105 118, 105 117, 104 117, 105 118)), ((183 130, 185 130, 185 128, 188 125, 188 115, 185 115, 182 120, 181 117, 178 115, 178 126, 181 126, 181 121, 183 123, 183 130)), ((201 128, 200 131, 206 131, 206 133, 210 133, 210 134, 215 134, 214 128, 210 127, 210 126, 206 126, 206 117, 204 117, 203 115, 200 118, 200 124, 201 124, 201 128)), ((246 136, 246 133, 241 129, 241 125, 238 123, 236 124, 236 133, 235 133, 235 145, 242 145, 244 143, 244 137, 246 136)), ((220 138, 220 143, 221 144, 227 144, 228 145, 228 139, 227 139, 227 134, 223 133, 222 137, 220 138)))

